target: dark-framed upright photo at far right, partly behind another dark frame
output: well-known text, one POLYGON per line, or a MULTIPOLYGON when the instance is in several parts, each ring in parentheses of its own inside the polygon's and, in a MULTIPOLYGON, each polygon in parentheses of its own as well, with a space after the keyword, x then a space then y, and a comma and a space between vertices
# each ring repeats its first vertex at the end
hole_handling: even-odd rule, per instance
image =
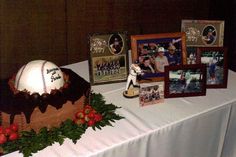
POLYGON ((226 88, 228 80, 227 49, 223 47, 201 47, 197 51, 198 63, 206 64, 206 87, 226 88))

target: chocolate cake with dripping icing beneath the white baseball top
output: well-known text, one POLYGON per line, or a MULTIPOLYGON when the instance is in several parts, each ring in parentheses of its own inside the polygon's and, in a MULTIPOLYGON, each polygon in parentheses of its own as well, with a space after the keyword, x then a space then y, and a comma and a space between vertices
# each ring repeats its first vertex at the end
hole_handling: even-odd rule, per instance
POLYGON ((50 93, 18 90, 15 76, 1 80, 1 125, 7 127, 16 123, 20 130, 33 129, 37 132, 42 127, 57 127, 83 109, 90 94, 90 84, 70 69, 60 70, 65 82, 50 93))

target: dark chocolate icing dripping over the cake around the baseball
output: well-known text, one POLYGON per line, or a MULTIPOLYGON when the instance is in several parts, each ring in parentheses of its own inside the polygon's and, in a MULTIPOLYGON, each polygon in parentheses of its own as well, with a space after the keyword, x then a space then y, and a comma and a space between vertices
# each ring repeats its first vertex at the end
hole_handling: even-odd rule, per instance
POLYGON ((23 91, 14 94, 8 84, 9 79, 1 80, 0 111, 10 114, 10 123, 13 123, 14 116, 21 112, 24 113, 27 123, 30 123, 31 114, 36 107, 44 113, 48 105, 60 109, 68 100, 74 103, 83 95, 89 97, 90 84, 87 81, 70 69, 61 68, 61 70, 69 76, 68 87, 53 90, 50 94, 29 94, 23 91))

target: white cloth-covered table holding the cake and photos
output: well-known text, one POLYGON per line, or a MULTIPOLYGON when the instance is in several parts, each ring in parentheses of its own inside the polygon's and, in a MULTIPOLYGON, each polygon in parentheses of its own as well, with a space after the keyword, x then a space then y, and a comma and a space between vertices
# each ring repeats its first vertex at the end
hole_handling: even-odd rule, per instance
MULTIPOLYGON (((88 62, 67 65, 89 81, 88 62)), ((236 73, 228 87, 207 89, 206 96, 165 99, 141 107, 138 98, 124 98, 126 82, 92 86, 125 118, 113 126, 88 128, 74 144, 66 139, 33 156, 58 157, 235 157, 236 73)), ((6 157, 23 156, 19 152, 6 157)))

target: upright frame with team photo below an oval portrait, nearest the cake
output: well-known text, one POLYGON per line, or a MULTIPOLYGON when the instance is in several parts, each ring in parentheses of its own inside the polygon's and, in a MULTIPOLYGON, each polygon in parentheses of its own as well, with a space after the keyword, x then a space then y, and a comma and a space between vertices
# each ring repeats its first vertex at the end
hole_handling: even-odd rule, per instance
POLYGON ((128 75, 127 33, 89 35, 92 85, 125 81, 128 75))

